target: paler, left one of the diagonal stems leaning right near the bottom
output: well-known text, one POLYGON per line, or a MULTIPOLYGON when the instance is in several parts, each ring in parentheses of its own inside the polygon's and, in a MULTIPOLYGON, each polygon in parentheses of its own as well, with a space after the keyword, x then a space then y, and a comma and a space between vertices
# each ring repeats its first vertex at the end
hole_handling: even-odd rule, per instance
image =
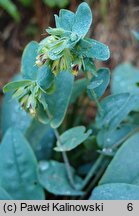
POLYGON ((104 160, 104 155, 100 155, 98 157, 98 159, 96 160, 95 164, 93 164, 92 168, 90 169, 88 175, 86 176, 81 189, 83 189, 91 180, 92 176, 96 173, 96 170, 98 169, 98 167, 100 167, 100 165, 102 164, 103 160, 104 160))

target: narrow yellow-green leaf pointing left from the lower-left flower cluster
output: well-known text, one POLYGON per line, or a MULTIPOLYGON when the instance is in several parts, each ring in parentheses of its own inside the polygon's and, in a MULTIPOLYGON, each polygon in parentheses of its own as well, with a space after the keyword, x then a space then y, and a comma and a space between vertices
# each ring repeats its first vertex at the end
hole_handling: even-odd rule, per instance
POLYGON ((9 82, 8 84, 4 86, 3 92, 6 93, 9 91, 14 91, 20 87, 25 87, 30 83, 31 83, 31 80, 20 80, 20 81, 9 82))

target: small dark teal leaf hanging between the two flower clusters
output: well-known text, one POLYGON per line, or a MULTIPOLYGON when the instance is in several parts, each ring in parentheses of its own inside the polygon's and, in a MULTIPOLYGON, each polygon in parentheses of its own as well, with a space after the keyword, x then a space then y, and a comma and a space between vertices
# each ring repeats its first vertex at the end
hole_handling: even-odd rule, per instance
POLYGON ((52 85, 54 81, 54 74, 50 71, 50 68, 46 65, 42 66, 38 70, 37 83, 46 91, 52 85))

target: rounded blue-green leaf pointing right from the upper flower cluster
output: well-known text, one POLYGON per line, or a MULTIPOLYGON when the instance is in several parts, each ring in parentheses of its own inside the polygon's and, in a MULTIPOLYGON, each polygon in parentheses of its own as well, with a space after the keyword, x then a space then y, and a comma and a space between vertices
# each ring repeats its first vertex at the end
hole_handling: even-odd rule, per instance
POLYGON ((106 61, 110 58, 110 50, 108 46, 93 39, 87 40, 92 45, 92 48, 87 50, 86 57, 101 61, 106 61))

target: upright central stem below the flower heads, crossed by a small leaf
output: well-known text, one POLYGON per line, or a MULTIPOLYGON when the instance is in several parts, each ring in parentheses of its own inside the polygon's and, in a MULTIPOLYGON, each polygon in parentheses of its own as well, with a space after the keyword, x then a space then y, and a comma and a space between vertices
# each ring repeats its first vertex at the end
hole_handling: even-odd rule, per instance
MULTIPOLYGON (((51 119, 51 114, 49 113, 49 110, 47 110, 47 115, 48 115, 48 118, 51 119)), ((53 128, 53 130, 54 130, 54 133, 55 133, 55 136, 58 140, 59 145, 62 145, 58 130, 56 128, 53 128)), ((62 152, 62 157, 63 157, 63 161, 64 161, 65 166, 66 166, 69 182, 70 182, 71 186, 75 189, 72 170, 71 170, 71 166, 70 166, 66 152, 64 152, 64 151, 62 152)))

